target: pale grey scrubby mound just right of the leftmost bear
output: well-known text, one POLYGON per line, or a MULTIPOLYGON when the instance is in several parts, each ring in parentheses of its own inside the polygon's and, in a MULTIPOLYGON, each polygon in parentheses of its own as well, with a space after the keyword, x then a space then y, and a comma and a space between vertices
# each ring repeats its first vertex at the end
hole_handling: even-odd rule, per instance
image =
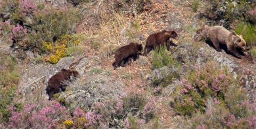
POLYGON ((65 100, 65 104, 75 109, 91 109, 95 102, 100 102, 106 98, 114 98, 121 95, 121 83, 119 80, 109 78, 108 76, 97 76, 87 83, 83 81, 75 81, 71 83, 65 92, 59 96, 61 100, 65 100))

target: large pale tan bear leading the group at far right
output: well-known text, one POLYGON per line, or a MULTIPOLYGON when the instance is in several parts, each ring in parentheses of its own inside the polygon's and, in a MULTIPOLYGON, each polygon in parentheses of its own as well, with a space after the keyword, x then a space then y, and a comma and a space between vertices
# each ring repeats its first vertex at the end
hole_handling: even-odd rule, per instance
POLYGON ((227 53, 230 53, 234 57, 241 58, 238 50, 242 51, 243 55, 246 55, 244 51, 247 51, 246 42, 242 36, 238 36, 234 31, 228 31, 221 26, 209 27, 205 25, 207 34, 215 50, 222 51, 221 46, 226 48, 227 53))

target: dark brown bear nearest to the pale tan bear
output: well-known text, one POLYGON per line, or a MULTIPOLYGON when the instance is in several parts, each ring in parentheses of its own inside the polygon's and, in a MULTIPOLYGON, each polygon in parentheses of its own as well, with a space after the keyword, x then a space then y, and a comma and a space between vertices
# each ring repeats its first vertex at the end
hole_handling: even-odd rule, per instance
POLYGON ((161 46, 164 46, 164 44, 165 44, 168 51, 169 51, 169 48, 171 45, 177 46, 176 44, 173 44, 173 42, 171 40, 169 40, 169 38, 177 39, 178 35, 175 31, 163 30, 159 33, 154 33, 154 34, 148 36, 148 38, 146 39, 146 46, 144 48, 143 55, 148 54, 154 48, 160 48, 160 44, 161 44, 161 46))

